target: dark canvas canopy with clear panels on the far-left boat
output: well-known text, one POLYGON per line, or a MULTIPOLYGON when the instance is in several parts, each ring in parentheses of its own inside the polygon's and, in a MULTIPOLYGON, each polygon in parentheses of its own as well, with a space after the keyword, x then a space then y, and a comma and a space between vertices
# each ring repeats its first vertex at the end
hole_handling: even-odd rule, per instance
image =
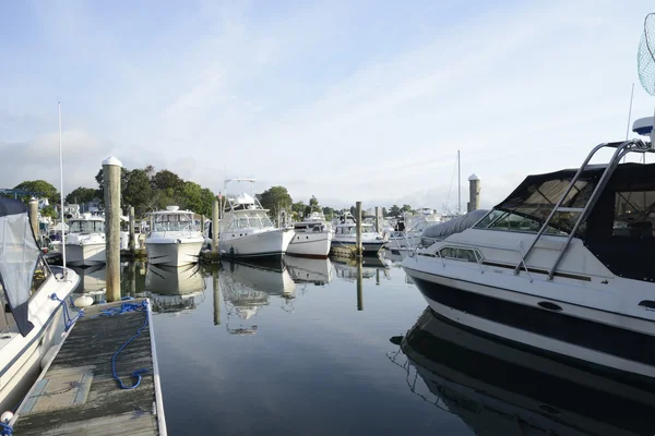
POLYGON ((0 281, 19 331, 27 336, 34 325, 27 319, 32 279, 41 255, 27 215, 27 205, 0 197, 0 281))

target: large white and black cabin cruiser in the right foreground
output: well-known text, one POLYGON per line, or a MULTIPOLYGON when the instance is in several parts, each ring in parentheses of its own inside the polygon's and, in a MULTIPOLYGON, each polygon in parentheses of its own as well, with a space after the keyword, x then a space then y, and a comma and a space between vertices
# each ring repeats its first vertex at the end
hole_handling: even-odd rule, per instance
POLYGON ((653 379, 655 165, 620 164, 631 152, 654 148, 600 144, 579 169, 527 177, 477 223, 418 249, 403 268, 453 322, 653 379), (608 148, 608 165, 590 165, 608 148))

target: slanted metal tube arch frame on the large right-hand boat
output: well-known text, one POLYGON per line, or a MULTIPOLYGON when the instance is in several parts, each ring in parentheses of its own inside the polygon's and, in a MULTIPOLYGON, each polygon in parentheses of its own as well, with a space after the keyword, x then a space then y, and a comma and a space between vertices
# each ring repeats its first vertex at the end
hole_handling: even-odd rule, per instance
POLYGON ((533 240, 533 242, 529 244, 525 254, 522 256, 519 264, 514 267, 515 275, 517 275, 521 271, 522 266, 526 265, 526 261, 527 261, 529 254, 532 253, 533 249, 535 247, 536 243, 539 241, 541 235, 544 235, 544 233, 548 229, 550 222, 552 222, 552 219, 556 216, 556 214, 560 214, 560 213, 579 214, 577 219, 575 220, 575 225, 573 226, 573 229, 569 232, 567 242, 560 249, 560 252, 558 254, 557 258, 555 259, 555 263, 548 270, 548 280, 552 280, 552 277, 555 276, 555 271, 557 270, 559 263, 561 262, 562 257, 564 256, 567 249, 571 244, 571 241, 575 237, 577 229, 585 221, 590 211, 594 208, 596 201, 603 193, 603 190, 607 185, 609 178, 614 173, 614 171, 617 168, 617 166, 619 165, 620 160, 631 152, 653 153, 653 152, 655 152, 655 149, 653 148, 651 143, 645 143, 642 140, 629 140, 629 141, 626 141, 622 143, 603 143, 603 144, 599 144, 596 147, 594 147, 594 149, 592 149, 592 152, 588 154, 588 156, 586 157, 586 159, 584 160, 582 166, 577 169, 577 172, 575 173, 575 175, 571 179, 571 182, 569 183, 569 186, 567 187, 567 190, 564 191, 562 196, 559 198, 557 204, 552 207, 552 210, 548 215, 548 218, 546 218, 546 221, 544 221, 544 225, 539 229, 539 231, 538 231, 537 235, 535 237, 535 239, 533 240), (598 183, 594 187, 592 195, 586 199, 586 202, 584 203, 584 205, 582 205, 582 207, 564 207, 564 206, 562 206, 562 204, 564 203, 564 201, 571 193, 571 190, 573 190, 573 187, 575 187, 575 183, 577 183, 577 181, 579 181, 580 177, 582 175, 582 173, 584 172, 584 170, 590 167, 590 161, 596 155, 596 152, 598 152, 599 149, 603 149, 603 148, 616 148, 616 150, 615 150, 610 161, 605 167, 605 170, 603 171, 603 175, 600 177, 598 183))

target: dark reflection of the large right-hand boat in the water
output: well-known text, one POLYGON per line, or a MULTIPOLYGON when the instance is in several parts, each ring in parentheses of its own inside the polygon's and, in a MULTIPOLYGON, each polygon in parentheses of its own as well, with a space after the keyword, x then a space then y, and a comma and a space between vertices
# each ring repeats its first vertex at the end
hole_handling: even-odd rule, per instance
MULTIPOLYGON (((655 434, 652 386, 622 384, 491 338, 426 308, 401 342, 410 389, 477 435, 655 434)), ((400 351, 390 358, 401 364, 400 351)))

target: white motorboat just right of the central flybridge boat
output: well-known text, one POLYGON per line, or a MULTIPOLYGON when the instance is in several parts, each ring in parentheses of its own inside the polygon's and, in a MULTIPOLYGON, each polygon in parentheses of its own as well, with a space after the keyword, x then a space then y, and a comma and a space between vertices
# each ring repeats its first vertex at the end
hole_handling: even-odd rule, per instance
POLYGON ((302 257, 327 258, 332 246, 332 223, 322 213, 312 211, 309 217, 294 223, 296 232, 287 247, 287 254, 302 257))

